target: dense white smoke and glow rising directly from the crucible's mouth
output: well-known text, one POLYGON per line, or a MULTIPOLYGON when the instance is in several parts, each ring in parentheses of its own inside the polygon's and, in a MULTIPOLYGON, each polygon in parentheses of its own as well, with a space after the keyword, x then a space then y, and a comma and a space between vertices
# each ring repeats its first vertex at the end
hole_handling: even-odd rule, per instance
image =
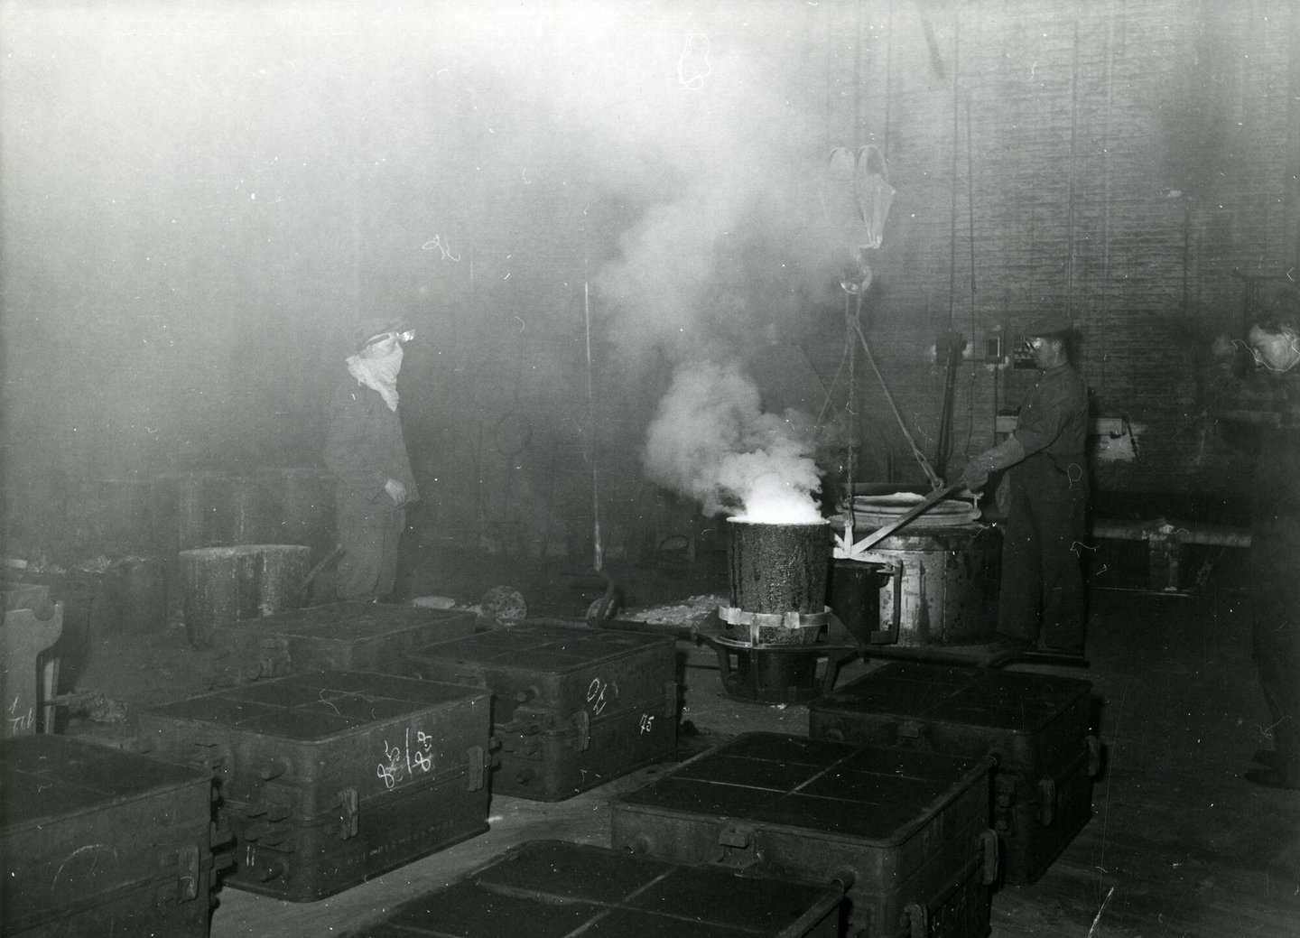
POLYGON ((758 387, 736 365, 692 362, 659 403, 642 464, 707 516, 815 524, 822 481, 811 452, 807 421, 793 411, 764 413, 758 387))

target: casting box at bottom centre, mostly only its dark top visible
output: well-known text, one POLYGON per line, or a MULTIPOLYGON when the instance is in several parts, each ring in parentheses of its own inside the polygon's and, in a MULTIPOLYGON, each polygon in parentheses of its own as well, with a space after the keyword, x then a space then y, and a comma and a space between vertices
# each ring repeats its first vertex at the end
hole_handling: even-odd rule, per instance
POLYGON ((835 938, 842 887, 533 841, 352 938, 835 938))

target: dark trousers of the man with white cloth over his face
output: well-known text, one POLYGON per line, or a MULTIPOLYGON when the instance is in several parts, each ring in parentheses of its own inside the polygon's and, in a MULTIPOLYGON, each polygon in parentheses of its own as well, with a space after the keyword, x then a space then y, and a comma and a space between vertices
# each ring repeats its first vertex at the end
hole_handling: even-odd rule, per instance
POLYGON ((406 508, 352 488, 334 492, 334 516, 343 553, 335 591, 339 599, 373 599, 393 592, 398 576, 398 542, 406 530, 406 508))

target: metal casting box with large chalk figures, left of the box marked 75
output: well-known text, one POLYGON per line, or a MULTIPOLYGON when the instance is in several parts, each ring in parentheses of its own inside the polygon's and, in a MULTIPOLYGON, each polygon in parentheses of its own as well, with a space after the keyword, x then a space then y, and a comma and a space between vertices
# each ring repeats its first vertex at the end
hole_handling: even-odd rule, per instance
POLYGON ((208 767, 226 885, 309 902, 488 830, 489 695, 321 672, 140 715, 140 746, 208 767))

